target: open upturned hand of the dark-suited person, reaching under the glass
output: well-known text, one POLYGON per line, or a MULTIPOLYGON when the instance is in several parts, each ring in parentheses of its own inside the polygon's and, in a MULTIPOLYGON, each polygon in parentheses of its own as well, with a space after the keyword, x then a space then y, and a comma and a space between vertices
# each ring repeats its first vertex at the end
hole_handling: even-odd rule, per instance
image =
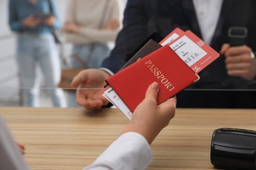
POLYGON ((85 69, 80 71, 71 82, 76 90, 76 101, 78 105, 86 109, 100 109, 108 104, 108 100, 100 92, 106 84, 105 80, 110 75, 100 69, 85 69), (81 89, 79 89, 81 88, 81 89), (100 90, 86 90, 83 88, 100 88, 100 90))

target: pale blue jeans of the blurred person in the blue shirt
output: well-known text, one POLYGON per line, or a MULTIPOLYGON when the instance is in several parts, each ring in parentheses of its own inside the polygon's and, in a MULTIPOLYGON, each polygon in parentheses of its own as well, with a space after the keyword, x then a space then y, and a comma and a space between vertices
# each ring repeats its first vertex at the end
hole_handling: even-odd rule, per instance
POLYGON ((40 67, 53 106, 66 107, 64 92, 58 88, 61 73, 60 58, 51 33, 20 34, 17 44, 17 61, 25 106, 40 107, 40 82, 36 75, 37 67, 40 67))

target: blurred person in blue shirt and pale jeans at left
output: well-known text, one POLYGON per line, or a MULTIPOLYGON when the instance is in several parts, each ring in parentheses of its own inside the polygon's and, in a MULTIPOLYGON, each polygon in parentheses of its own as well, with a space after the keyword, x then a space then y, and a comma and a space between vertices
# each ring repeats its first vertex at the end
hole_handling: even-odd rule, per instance
POLYGON ((24 105, 40 106, 39 65, 53 106, 66 107, 64 92, 57 88, 60 59, 51 29, 60 27, 60 21, 53 0, 9 0, 9 25, 18 33, 17 61, 24 105))

